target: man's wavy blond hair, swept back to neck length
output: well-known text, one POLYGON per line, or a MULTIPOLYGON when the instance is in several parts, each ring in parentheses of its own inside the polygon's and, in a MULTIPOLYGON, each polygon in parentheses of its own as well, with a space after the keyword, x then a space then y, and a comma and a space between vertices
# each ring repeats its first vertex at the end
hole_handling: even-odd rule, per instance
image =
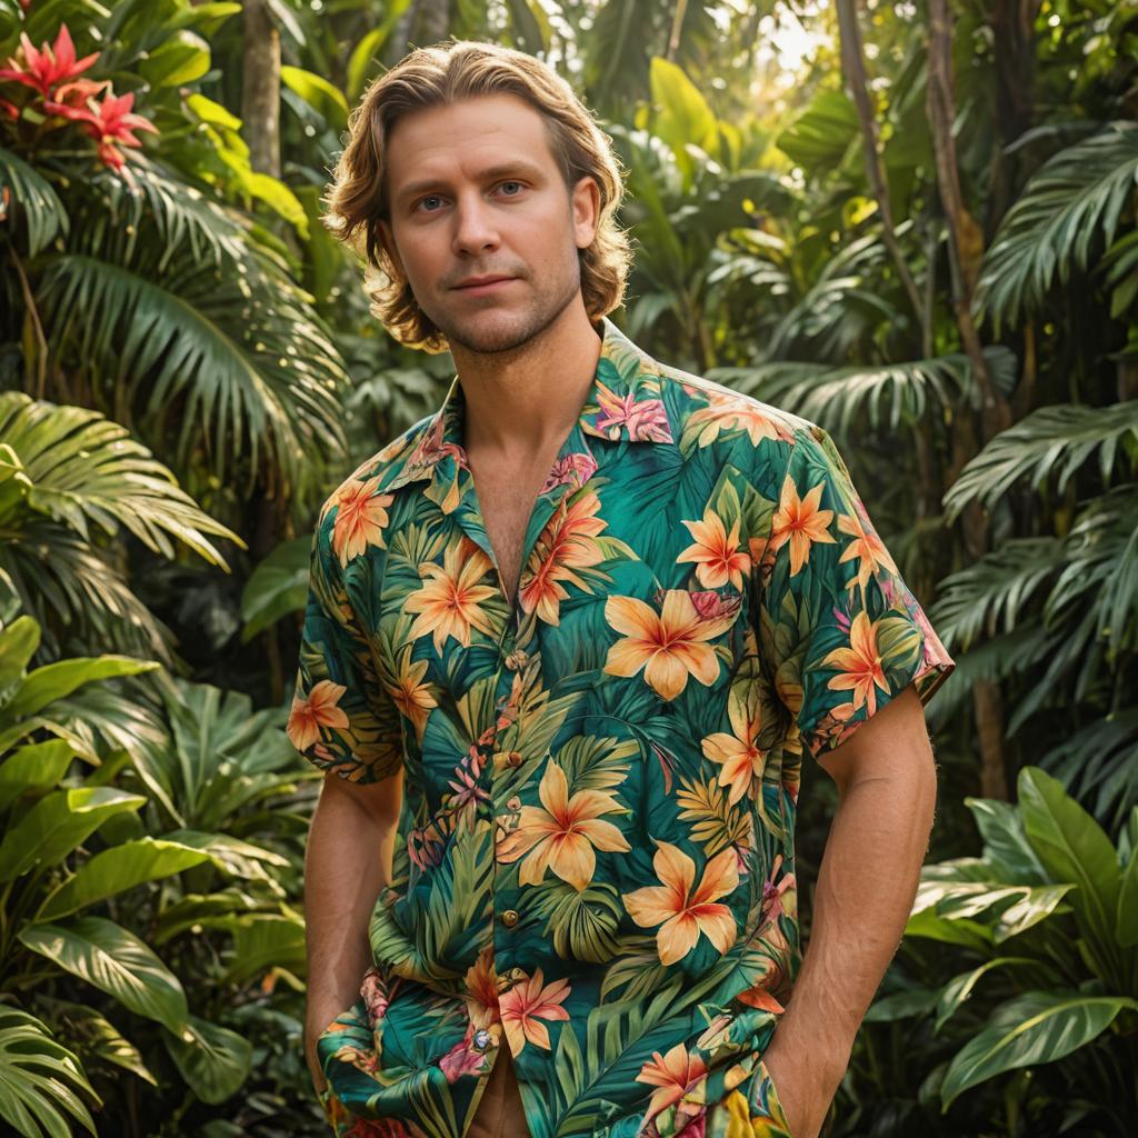
POLYGON ((348 140, 323 200, 323 224, 364 258, 371 310, 401 343, 445 352, 446 337, 419 307, 384 246, 380 220, 390 222, 386 141, 404 115, 480 94, 514 94, 545 118, 566 185, 588 175, 601 190, 592 244, 579 249, 582 297, 597 321, 624 298, 632 264, 627 234, 616 222, 624 193, 620 159, 572 88, 539 59, 512 48, 451 40, 417 48, 374 80, 348 116, 348 140), (377 272, 378 270, 378 272, 377 272))

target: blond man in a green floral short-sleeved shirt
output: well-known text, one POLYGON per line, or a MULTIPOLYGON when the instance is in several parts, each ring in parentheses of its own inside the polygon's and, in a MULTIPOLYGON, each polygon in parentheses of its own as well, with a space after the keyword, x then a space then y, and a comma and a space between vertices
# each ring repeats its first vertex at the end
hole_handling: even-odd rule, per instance
POLYGON ((813 1138, 916 889, 953 661, 825 432, 609 320, 619 172, 566 83, 446 43, 349 129, 330 225, 457 374, 313 545, 289 733, 328 772, 329 1120, 813 1138), (841 799, 800 962, 803 751, 841 799))

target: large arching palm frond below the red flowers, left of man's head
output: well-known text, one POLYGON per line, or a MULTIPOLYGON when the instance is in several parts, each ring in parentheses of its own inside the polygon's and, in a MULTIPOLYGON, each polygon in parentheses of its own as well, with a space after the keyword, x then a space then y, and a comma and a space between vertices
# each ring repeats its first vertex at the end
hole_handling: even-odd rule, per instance
POLYGON ((349 386, 313 298, 236 209, 152 160, 135 181, 93 179, 41 279, 57 354, 114 382, 138 434, 173 436, 178 469, 204 447, 218 479, 248 493, 264 473, 270 493, 304 500, 343 455, 349 386))

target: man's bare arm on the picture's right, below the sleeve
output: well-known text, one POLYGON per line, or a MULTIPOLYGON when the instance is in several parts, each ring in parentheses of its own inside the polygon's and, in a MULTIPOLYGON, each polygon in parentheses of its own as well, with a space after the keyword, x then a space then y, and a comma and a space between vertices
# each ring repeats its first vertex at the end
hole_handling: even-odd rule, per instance
POLYGON ((858 1026, 897 951, 927 849, 937 768, 912 685, 818 757, 839 806, 809 942, 764 1053, 792 1138, 816 1138, 858 1026))

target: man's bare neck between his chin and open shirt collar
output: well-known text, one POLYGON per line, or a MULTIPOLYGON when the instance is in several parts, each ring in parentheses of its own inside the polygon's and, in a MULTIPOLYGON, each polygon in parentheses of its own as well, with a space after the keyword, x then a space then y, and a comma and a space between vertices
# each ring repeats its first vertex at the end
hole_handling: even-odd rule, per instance
POLYGON ((579 298, 511 352, 452 347, 467 405, 464 448, 527 459, 568 435, 596 374, 601 337, 579 298))

